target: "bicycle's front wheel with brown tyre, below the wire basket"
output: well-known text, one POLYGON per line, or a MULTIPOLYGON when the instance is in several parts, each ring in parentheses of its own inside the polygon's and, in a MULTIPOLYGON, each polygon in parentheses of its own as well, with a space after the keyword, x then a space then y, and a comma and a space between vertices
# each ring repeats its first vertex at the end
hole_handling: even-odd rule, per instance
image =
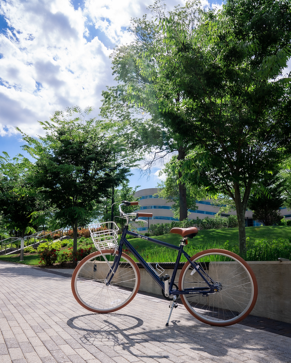
POLYGON ((95 313, 119 310, 132 301, 140 287, 137 264, 122 253, 115 271, 113 262, 116 255, 113 253, 113 250, 93 252, 83 258, 74 270, 72 292, 76 301, 87 310, 95 313))

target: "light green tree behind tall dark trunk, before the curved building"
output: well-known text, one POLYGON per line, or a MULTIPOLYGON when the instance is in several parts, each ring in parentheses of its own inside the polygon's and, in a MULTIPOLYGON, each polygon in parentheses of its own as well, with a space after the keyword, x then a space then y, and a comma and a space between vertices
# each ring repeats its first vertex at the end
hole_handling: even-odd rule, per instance
MULTIPOLYGON (((177 183, 179 175, 176 168, 177 156, 173 156, 169 163, 165 164, 162 172, 167 175, 167 178, 162 183, 158 183, 159 197, 166 199, 169 202, 174 202, 171 208, 174 211, 175 218, 180 216, 180 197, 179 184, 177 183)), ((196 200, 201 200, 206 197, 204 188, 198 185, 184 185, 186 191, 186 211, 189 209, 198 209, 196 200)), ((184 219, 184 218, 183 218, 184 219)), ((183 220, 180 218, 180 221, 183 220)))

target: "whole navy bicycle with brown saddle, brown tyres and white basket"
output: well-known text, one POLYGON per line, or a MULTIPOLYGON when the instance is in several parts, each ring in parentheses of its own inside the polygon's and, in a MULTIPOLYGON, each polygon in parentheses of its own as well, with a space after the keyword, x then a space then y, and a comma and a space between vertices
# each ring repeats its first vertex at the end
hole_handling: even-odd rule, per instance
MULTIPOLYGON (((125 246, 161 287, 164 297, 170 300, 166 325, 169 325, 173 308, 178 306, 178 298, 190 314, 209 325, 227 326, 244 319, 253 309, 258 295, 257 281, 250 266, 237 254, 223 249, 209 249, 189 256, 184 246, 188 238, 198 233, 196 227, 171 229, 171 233, 182 237, 179 246, 129 231, 130 217, 133 222, 138 221, 138 217, 152 217, 152 213, 122 212, 123 205, 137 204, 123 201, 119 205, 120 217, 126 219, 119 245, 119 228, 115 222, 89 227, 97 251, 83 258, 72 275, 72 292, 78 303, 95 313, 111 313, 132 301, 140 286, 140 271, 136 262, 122 252, 125 246), (126 234, 177 250, 172 276, 160 276, 161 273, 158 274, 129 243, 126 234), (182 255, 187 262, 177 282, 175 278, 182 255)), ((156 269, 159 268, 157 264, 156 269)))

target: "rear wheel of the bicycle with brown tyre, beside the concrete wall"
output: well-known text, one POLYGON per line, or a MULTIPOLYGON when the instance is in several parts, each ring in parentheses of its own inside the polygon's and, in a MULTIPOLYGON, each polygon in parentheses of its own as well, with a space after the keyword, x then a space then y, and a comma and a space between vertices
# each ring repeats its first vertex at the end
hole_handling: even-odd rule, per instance
MULTIPOLYGON (((217 290, 211 294, 180 295, 186 309, 198 320, 215 326, 240 322, 253 310, 258 295, 257 280, 250 266, 237 254, 209 249, 195 254, 191 261, 217 290), (203 296, 204 295, 204 296, 203 296)), ((179 290, 207 288, 208 284, 187 262, 179 278, 179 290)))

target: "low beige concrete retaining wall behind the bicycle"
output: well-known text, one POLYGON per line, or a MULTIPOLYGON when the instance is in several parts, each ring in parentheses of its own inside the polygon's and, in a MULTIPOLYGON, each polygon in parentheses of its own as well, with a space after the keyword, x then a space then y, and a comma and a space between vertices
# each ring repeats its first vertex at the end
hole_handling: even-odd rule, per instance
MULTIPOLYGON (((252 315, 291 323, 291 261, 248 261, 258 282, 258 298, 252 315)), ((172 275, 172 269, 165 273, 172 275)), ((179 280, 178 270, 175 281, 179 280)), ((161 288, 140 269, 140 291, 162 295, 161 288)), ((178 284, 177 284, 178 285, 178 284)))

